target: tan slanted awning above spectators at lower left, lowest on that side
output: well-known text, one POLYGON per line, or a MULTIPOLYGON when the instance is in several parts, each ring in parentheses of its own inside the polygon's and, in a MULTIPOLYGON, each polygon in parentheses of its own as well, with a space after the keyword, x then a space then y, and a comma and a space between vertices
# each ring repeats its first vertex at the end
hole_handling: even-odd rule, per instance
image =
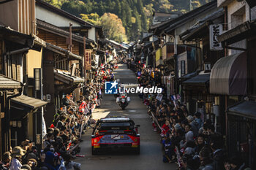
MULTIPOLYGON (((21 95, 15 98, 11 98, 11 102, 15 104, 20 104, 23 107, 27 107, 29 109, 37 109, 39 107, 43 107, 48 104, 45 101, 39 100, 37 98, 32 98, 29 96, 21 95)), ((12 107, 12 104, 11 104, 12 107)))

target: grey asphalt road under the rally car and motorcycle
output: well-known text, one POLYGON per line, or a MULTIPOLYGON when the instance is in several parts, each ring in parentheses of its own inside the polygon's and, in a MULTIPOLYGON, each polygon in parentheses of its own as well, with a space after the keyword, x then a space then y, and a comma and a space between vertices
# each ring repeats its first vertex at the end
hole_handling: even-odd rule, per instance
MULTIPOLYGON (((119 65, 115 71, 116 79, 122 83, 137 83, 135 74, 127 69, 126 65, 119 65)), ((146 106, 136 94, 129 94, 131 102, 125 110, 118 107, 116 98, 113 95, 105 95, 102 105, 93 113, 94 119, 107 115, 122 115, 130 117, 136 124, 140 125, 140 155, 131 152, 106 152, 102 155, 91 155, 91 132, 89 129, 83 135, 83 142, 80 144, 81 155, 85 158, 77 158, 76 162, 81 163, 81 169, 97 170, 161 170, 176 169, 176 164, 162 162, 162 150, 159 134, 153 131, 151 119, 147 114, 146 106)))

